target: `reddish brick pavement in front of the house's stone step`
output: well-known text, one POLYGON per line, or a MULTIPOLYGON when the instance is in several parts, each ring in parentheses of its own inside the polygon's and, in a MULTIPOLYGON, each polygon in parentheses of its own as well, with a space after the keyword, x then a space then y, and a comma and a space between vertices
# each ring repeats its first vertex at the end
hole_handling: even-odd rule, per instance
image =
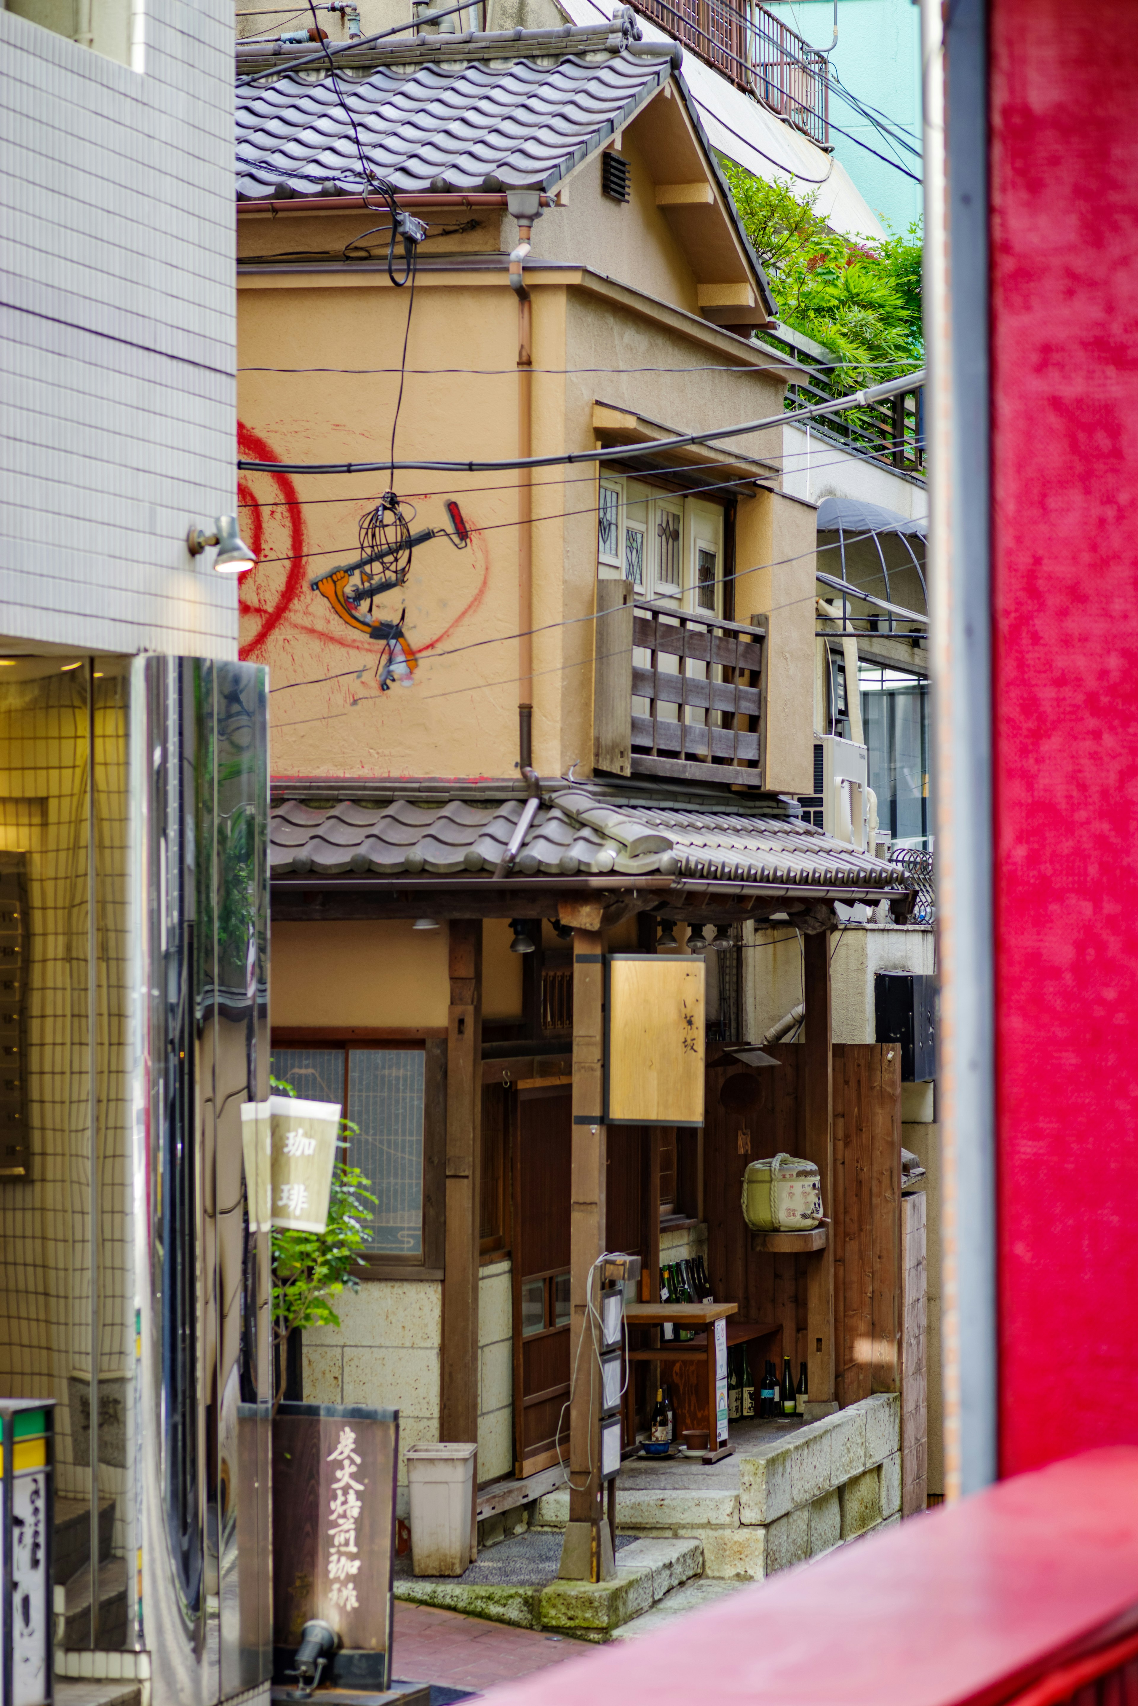
POLYGON ((401 1680, 433 1682, 481 1694, 496 1682, 527 1677, 565 1660, 587 1663, 599 1648, 556 1639, 537 1629, 466 1617, 457 1610, 396 1600, 394 1672, 401 1680))

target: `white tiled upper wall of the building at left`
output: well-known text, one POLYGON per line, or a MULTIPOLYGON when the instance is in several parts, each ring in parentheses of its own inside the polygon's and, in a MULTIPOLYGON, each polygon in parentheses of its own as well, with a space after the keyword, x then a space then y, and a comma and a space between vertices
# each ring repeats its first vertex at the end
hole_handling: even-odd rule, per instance
POLYGON ((184 543, 235 503, 232 32, 133 0, 119 65, 0 10, 0 635, 235 655, 184 543))

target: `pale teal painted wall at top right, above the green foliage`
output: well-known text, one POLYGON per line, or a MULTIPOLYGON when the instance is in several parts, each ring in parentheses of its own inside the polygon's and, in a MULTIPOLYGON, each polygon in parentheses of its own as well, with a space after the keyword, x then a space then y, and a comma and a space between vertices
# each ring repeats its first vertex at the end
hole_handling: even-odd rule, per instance
MULTIPOLYGON (((812 48, 827 48, 834 34, 833 0, 763 0, 812 48)), ((838 46, 831 55, 841 82, 870 107, 921 145, 921 14, 913 0, 838 0, 838 46)), ((829 116, 848 136, 831 131, 834 154, 850 172, 868 205, 896 232, 909 229, 921 215, 921 186, 894 171, 851 138, 867 142, 877 154, 894 148, 831 89, 829 116)), ((920 159, 896 147, 896 155, 920 177, 920 159)))

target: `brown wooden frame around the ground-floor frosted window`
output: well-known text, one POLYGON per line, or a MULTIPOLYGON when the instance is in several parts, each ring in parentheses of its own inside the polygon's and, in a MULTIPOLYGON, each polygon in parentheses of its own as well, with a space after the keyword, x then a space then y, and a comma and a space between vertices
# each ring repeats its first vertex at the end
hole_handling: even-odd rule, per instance
MULTIPOLYGON (((425 1054, 423 1061, 423 1221, 416 1256, 362 1252, 358 1280, 442 1280, 445 1262, 447 1187, 447 1032, 442 1029, 386 1030, 363 1025, 273 1027, 275 1049, 379 1049, 425 1054)), ((345 1061, 345 1102, 348 1085, 345 1061)))

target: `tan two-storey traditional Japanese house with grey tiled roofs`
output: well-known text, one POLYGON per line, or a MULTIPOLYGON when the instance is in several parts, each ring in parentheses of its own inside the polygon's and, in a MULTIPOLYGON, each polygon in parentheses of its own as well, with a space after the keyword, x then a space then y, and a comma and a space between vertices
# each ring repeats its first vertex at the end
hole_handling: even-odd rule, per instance
MULTIPOLYGON (((379 1196, 362 1290, 305 1338, 305 1397, 396 1404, 404 1448, 476 1438, 479 1483, 548 1471, 606 1247, 643 1257, 652 1298, 662 1254, 705 1252, 768 1351, 809 1361, 821 1414, 892 1390, 889 1075, 879 1351, 848 1361, 841 1302, 836 1336, 833 1240, 756 1250, 739 1213, 744 1157, 776 1148, 816 1158, 831 1203, 834 902, 901 920, 913 887, 797 804, 817 589, 816 508, 778 461, 795 368, 763 345, 776 309, 679 49, 624 14, 336 65, 239 61, 273 1058, 343 1100, 379 1196), (427 225, 406 254, 403 215, 427 225), (698 438, 735 421, 756 425, 698 438), (715 960, 713 933, 771 918, 802 935, 805 1047, 776 1073, 723 1054, 747 1036, 727 993, 706 1123, 606 1128, 602 957, 715 960)), ((867 1075, 851 1126, 870 1100, 867 1075)), ((597 1512, 590 1486, 573 1522, 597 1512)))

